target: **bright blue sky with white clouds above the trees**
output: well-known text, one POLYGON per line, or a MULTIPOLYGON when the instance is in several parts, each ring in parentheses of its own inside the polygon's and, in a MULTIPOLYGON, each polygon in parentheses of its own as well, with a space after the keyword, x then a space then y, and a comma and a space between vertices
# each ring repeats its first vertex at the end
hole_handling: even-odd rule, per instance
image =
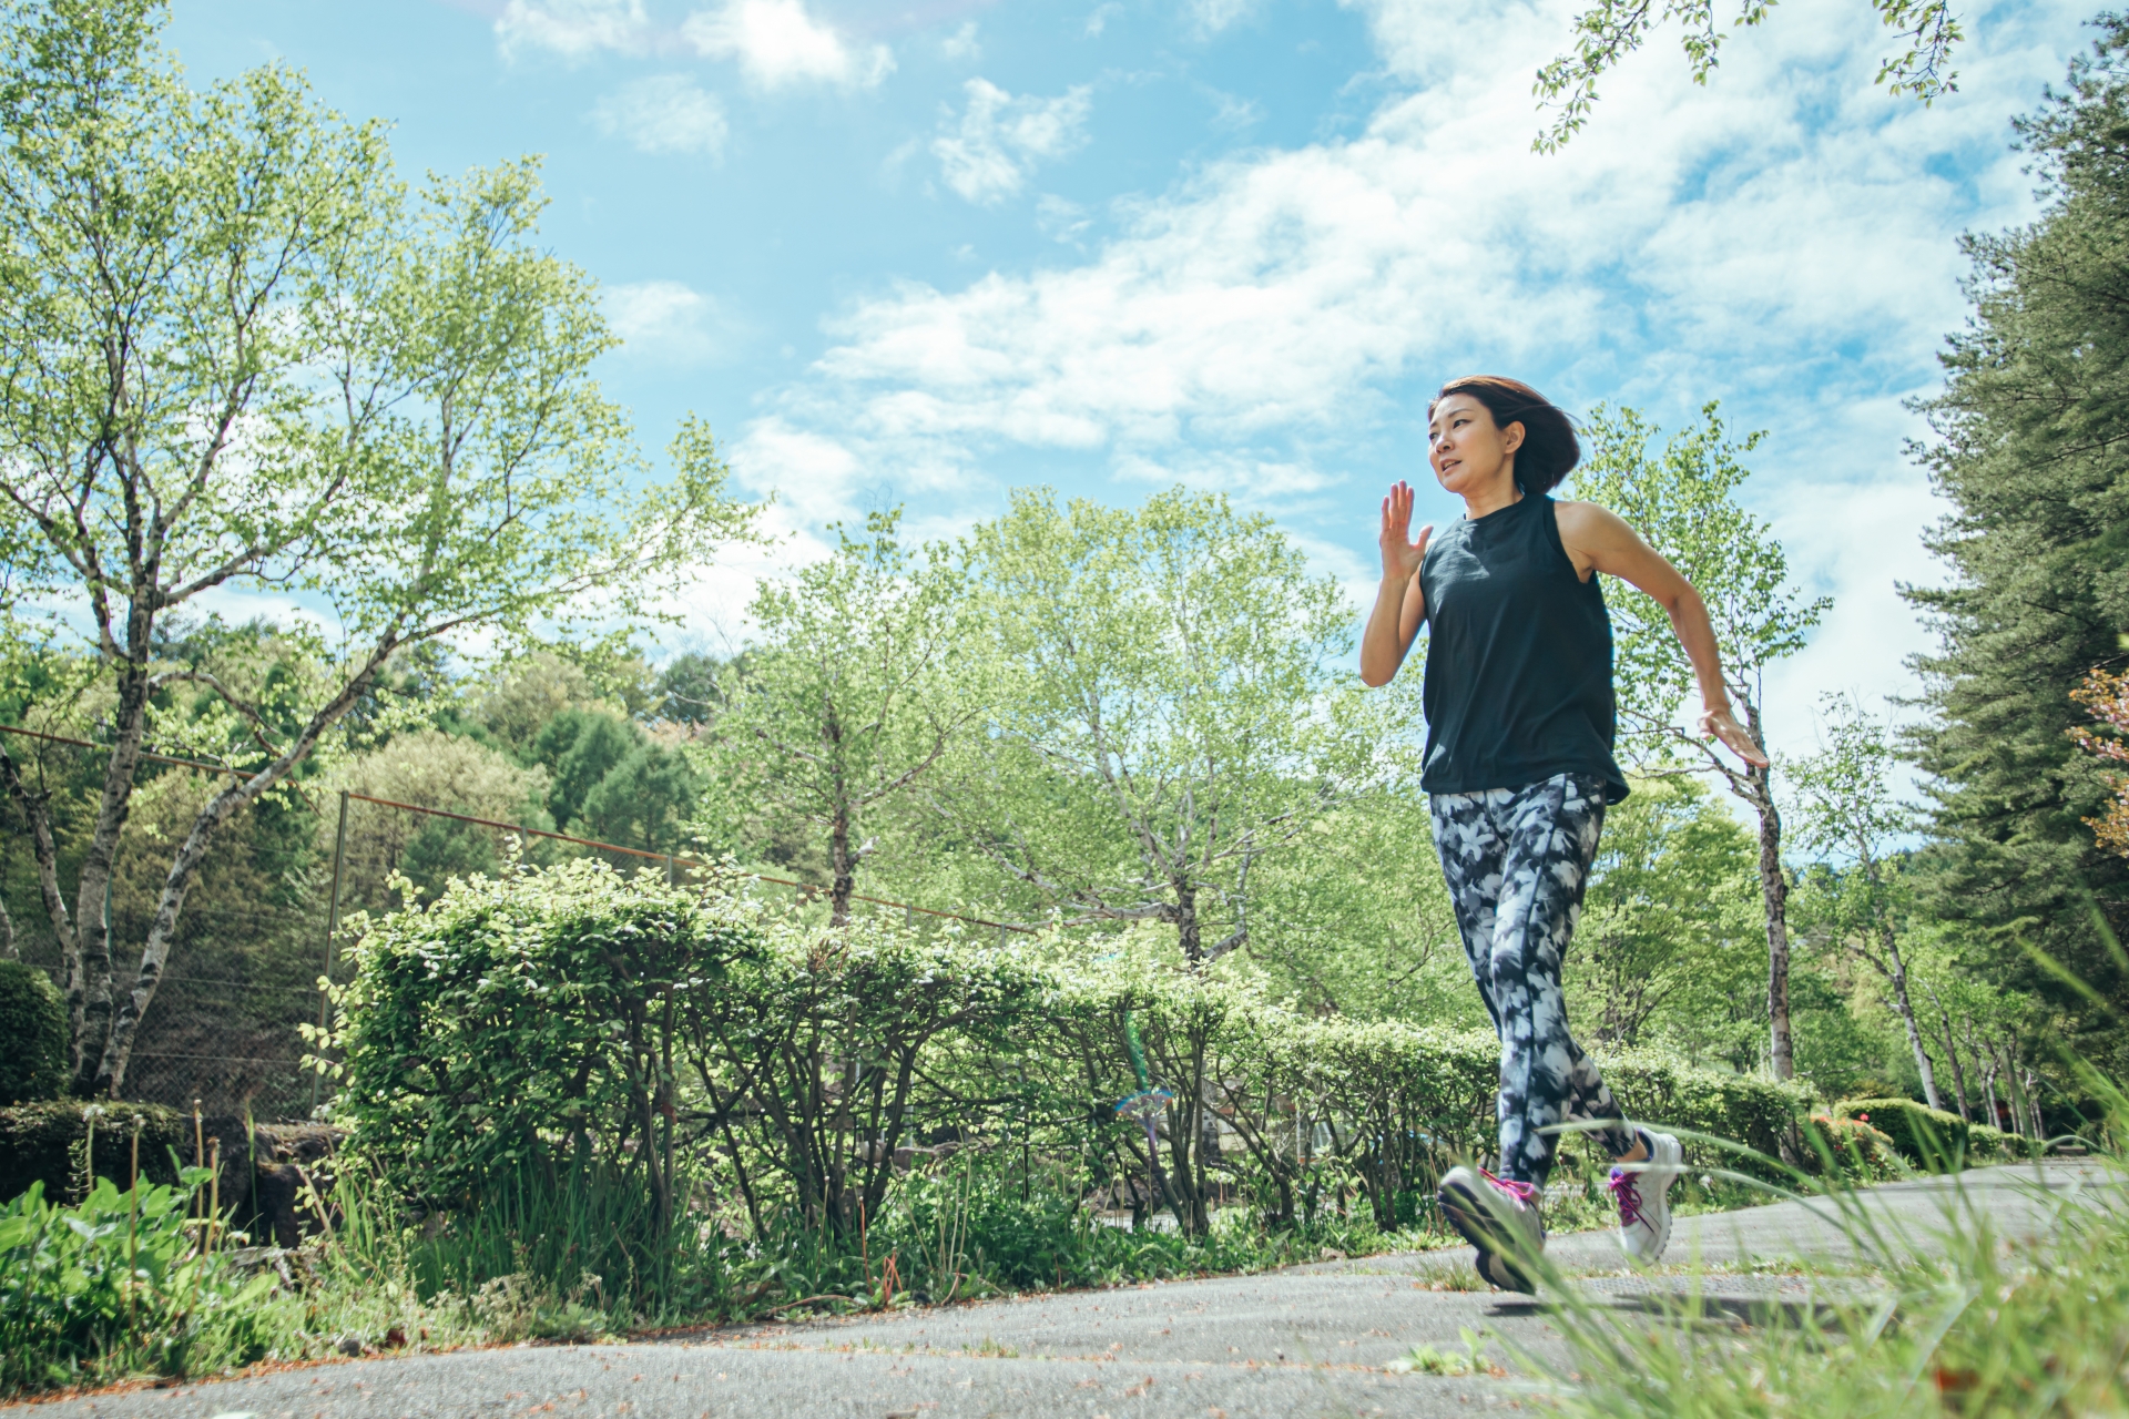
MULTIPOLYGON (((198 77, 268 57, 394 123, 409 172, 545 155, 545 238, 607 289, 647 449, 696 411, 781 551, 907 504, 945 536, 1052 483, 1218 487, 1365 594, 1424 400, 1497 370, 1584 411, 1765 428, 1750 502, 1837 606, 1769 687, 1908 687, 1893 591, 1937 577, 1903 400, 1963 319, 1957 236, 2029 219, 2010 117, 2086 9, 1965 4, 1961 91, 1871 85, 1863 0, 1790 0, 1695 87, 1676 32, 1529 151, 1571 0, 175 0, 198 77)), ((1454 506, 1422 481, 1433 519, 1454 506)))

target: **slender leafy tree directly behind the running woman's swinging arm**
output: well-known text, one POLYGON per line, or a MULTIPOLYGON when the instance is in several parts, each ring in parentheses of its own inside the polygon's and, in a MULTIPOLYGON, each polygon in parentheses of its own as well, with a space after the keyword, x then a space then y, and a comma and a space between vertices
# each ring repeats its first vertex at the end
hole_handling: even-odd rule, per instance
MULTIPOLYGON (((1588 457, 1575 470, 1573 496, 1599 502, 1633 525, 1648 545, 1684 572, 1707 602, 1722 647, 1722 674, 1744 728, 1765 749, 1767 666, 1803 649, 1833 604, 1805 598, 1788 577, 1788 557, 1765 521, 1735 502, 1748 468, 1742 455, 1759 434, 1731 443, 1716 404, 1654 453, 1656 428, 1633 408, 1599 406, 1586 425, 1588 457)), ((1722 757, 1716 745, 1678 723, 1693 687, 1693 666, 1663 608, 1646 596, 1612 602, 1620 683, 1622 751, 1648 768, 1690 764, 1716 774, 1759 819, 1759 885, 1767 930, 1767 1025, 1776 1079, 1795 1074, 1788 1021, 1788 879, 1782 877, 1782 811, 1773 766, 1754 768, 1722 757)))

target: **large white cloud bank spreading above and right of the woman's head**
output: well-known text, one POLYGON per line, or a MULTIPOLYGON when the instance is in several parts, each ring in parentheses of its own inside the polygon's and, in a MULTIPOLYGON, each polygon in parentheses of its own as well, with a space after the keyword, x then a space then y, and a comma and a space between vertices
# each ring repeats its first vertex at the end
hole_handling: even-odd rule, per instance
MULTIPOLYGON (((1360 2, 1405 83, 1363 132, 1199 168, 1118 208, 1122 232, 1071 266, 858 300, 773 396, 777 436, 832 430, 837 457, 896 487, 981 487, 964 470, 1030 455, 1105 466, 1124 496, 1156 477, 1226 487, 1365 564, 1373 491, 1337 479, 1420 470, 1412 408, 1448 374, 1520 372, 1569 406, 1624 400, 1673 428, 1722 398, 1771 428, 1750 496, 1839 598, 1769 679, 1776 742, 1810 734, 1820 689, 1901 687, 1927 634, 1893 581, 1933 577, 1901 398, 1933 387, 1963 319, 1957 234, 2031 215, 2008 117, 2082 45, 2080 11, 1980 11, 1963 91, 1922 108, 1874 87, 1888 40, 1867 6, 1795 0, 1735 36, 1705 89, 1652 43, 1546 157, 1529 151, 1529 74, 1575 0, 1360 2)), ((964 198, 1024 189, 1011 123, 1028 102, 969 83, 935 143, 964 198)), ((1077 143, 1082 123, 1047 140, 1077 143)), ((1062 200, 1039 211, 1045 230, 1077 219, 1062 200)), ((849 506, 847 479, 820 487, 849 506)))

